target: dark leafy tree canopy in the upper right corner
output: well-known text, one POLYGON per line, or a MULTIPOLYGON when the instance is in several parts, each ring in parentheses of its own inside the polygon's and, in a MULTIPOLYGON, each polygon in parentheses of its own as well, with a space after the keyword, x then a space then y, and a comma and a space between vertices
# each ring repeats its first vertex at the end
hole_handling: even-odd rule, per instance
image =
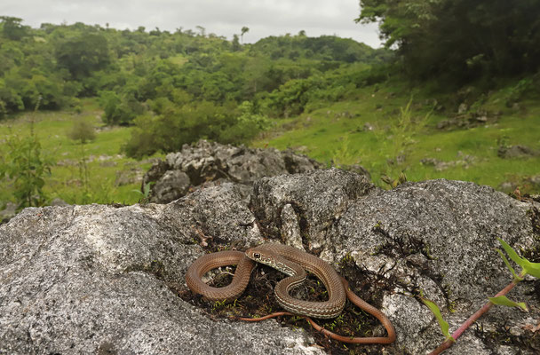
MULTIPOLYGON (((540 3, 505 0, 361 0, 357 21, 379 22, 414 78, 468 83, 534 72, 540 65, 540 3)), ((441 85, 442 86, 442 85, 441 85)))

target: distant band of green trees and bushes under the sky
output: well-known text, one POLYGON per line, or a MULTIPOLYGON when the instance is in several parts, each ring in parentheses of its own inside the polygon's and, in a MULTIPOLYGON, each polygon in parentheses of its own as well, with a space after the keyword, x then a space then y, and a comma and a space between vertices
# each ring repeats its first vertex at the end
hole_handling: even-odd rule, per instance
POLYGON ((363 83, 361 69, 393 55, 304 31, 242 44, 204 28, 29 28, 18 18, 0 20, 0 116, 31 110, 38 99, 40 108, 76 109, 78 98, 99 97, 107 123, 137 126, 126 146, 134 156, 198 138, 241 143, 266 116, 342 98, 363 83))

